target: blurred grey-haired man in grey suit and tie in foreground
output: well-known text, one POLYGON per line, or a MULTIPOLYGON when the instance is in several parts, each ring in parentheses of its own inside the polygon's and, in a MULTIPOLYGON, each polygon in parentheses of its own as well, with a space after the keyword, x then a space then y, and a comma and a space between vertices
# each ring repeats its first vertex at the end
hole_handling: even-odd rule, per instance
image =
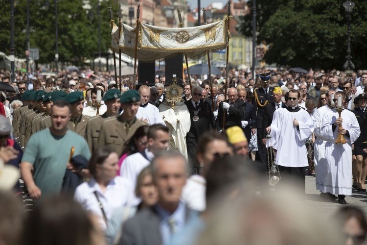
POLYGON ((173 151, 162 152, 150 166, 159 193, 158 203, 140 210, 124 223, 120 245, 168 244, 174 233, 198 215, 180 201, 187 176, 184 156, 173 151))

